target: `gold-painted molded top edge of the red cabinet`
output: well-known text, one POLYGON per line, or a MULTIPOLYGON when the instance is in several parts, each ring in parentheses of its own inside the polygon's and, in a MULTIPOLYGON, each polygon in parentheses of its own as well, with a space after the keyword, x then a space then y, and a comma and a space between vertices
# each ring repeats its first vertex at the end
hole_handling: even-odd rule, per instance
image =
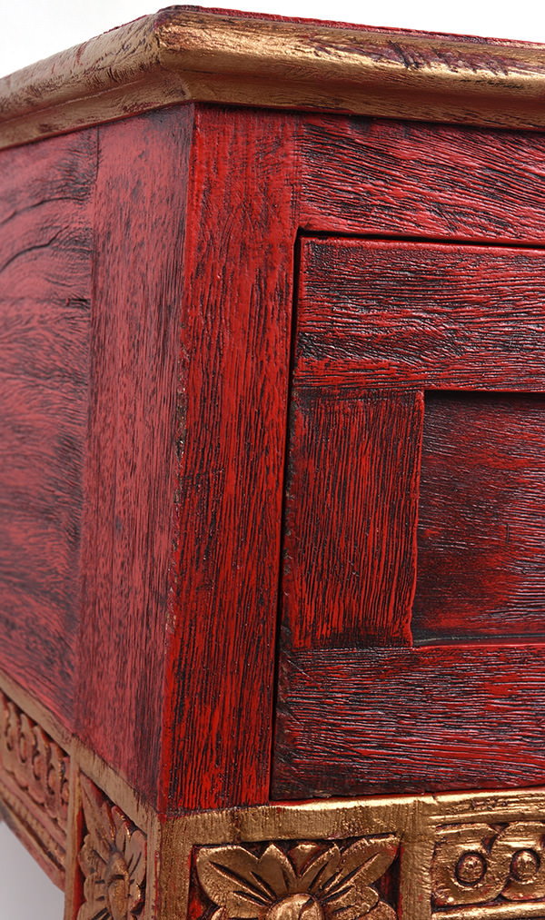
POLYGON ((170 6, 0 80, 0 147, 186 101, 545 128, 545 46, 170 6))

